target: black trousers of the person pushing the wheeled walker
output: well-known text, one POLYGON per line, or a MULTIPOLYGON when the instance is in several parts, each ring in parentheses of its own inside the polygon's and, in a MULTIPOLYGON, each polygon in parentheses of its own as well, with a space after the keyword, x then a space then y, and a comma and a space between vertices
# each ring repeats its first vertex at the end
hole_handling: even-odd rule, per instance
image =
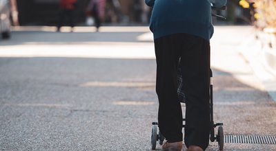
POLYGON ((190 34, 155 39, 159 129, 169 143, 182 141, 183 117, 177 97, 177 65, 186 97, 186 146, 208 147, 210 135, 210 43, 190 34))

